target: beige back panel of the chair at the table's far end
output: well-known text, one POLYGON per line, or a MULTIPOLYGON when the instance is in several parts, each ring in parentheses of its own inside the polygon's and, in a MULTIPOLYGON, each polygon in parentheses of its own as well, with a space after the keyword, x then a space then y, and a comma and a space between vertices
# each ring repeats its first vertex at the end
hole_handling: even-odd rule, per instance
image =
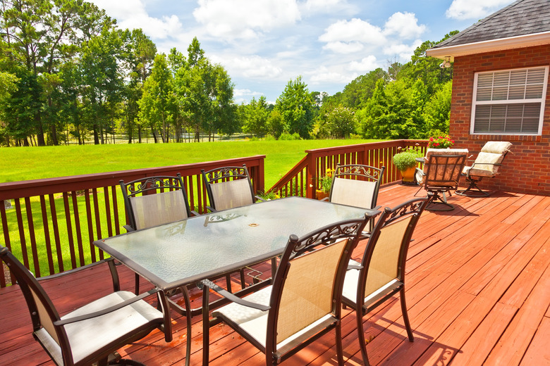
POLYGON ((372 208, 372 198, 376 182, 365 180, 334 178, 331 202, 341 205, 372 208))

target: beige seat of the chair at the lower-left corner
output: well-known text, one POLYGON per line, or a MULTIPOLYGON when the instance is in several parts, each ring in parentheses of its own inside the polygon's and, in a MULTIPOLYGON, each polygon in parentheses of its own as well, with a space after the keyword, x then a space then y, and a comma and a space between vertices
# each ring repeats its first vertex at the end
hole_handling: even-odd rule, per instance
MULTIPOLYGON (((72 313, 68 313, 61 317, 61 319, 64 320, 88 313, 94 313, 95 311, 109 308, 110 306, 133 297, 135 297, 135 295, 131 292, 118 291, 82 306, 82 308, 78 308, 72 313)), ((97 351, 99 348, 116 341, 116 339, 121 338, 125 334, 132 334, 133 330, 142 327, 148 322, 161 320, 162 318, 163 315, 159 310, 153 308, 145 301, 140 300, 116 310, 113 313, 94 317, 90 320, 66 324, 64 327, 69 343, 71 344, 73 360, 76 363, 80 362, 80 360, 83 360, 94 351, 97 351)), ((47 345, 47 348, 49 348, 56 361, 58 361, 57 358, 59 357, 61 363, 58 363, 62 365, 61 349, 56 341, 51 338, 50 334, 44 332, 44 329, 36 332, 36 334, 42 343, 44 343, 45 346, 47 345)))

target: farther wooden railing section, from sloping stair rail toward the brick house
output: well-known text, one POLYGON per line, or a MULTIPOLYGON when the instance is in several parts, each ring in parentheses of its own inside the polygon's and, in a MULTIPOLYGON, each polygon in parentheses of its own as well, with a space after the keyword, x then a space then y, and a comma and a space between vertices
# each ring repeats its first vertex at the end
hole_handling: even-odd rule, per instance
POLYGON ((364 164, 376 168, 385 166, 382 184, 396 182, 401 180, 401 175, 391 162, 393 155, 398 153, 398 148, 416 144, 425 153, 426 140, 392 140, 306 150, 307 155, 268 191, 279 196, 314 198, 315 190, 319 189, 319 177, 325 174, 326 169, 336 168, 336 164, 364 164))

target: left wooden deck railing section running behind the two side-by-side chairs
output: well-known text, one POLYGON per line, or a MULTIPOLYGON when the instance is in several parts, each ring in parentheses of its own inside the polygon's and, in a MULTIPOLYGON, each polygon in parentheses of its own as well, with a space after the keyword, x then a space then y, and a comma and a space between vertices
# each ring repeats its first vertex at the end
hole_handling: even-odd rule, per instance
MULTIPOLYGON (((102 260, 92 242, 125 232, 126 212, 119 181, 181 173, 192 210, 206 212, 201 169, 246 164, 255 191, 264 191, 264 155, 161 168, 0 184, 1 234, 36 277, 102 260), (5 202, 6 201, 6 204, 5 202), (13 206, 12 206, 13 205, 13 206), (6 209, 6 206, 12 208, 6 209)), ((1 239, 0 239, 1 240, 1 239)), ((0 270, 0 287, 8 271, 0 270)))

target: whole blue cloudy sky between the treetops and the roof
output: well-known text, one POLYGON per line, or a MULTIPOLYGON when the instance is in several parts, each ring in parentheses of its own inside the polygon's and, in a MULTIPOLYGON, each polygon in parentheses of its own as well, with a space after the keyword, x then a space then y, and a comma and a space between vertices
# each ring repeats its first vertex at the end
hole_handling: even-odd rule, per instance
POLYGON ((159 52, 197 37, 226 68, 235 101, 274 103, 302 76, 310 92, 341 92, 359 75, 406 63, 424 41, 512 0, 91 0, 122 28, 142 28, 159 52))

